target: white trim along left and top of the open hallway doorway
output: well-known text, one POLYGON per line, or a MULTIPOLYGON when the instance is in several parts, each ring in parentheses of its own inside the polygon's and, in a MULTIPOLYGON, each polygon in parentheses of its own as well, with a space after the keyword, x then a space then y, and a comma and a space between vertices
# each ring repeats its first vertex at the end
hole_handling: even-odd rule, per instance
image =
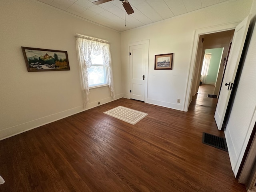
POLYGON ((184 96, 185 104, 183 106, 183 111, 188 111, 188 107, 190 104, 190 93, 191 93, 191 89, 192 89, 192 82, 195 80, 195 79, 193 79, 193 76, 194 76, 194 70, 196 67, 196 55, 198 52, 198 41, 199 41, 200 35, 232 30, 232 29, 235 29, 239 23, 240 22, 234 22, 234 23, 229 23, 229 24, 225 24, 225 25, 219 25, 219 26, 214 26, 214 27, 209 27, 209 28, 204 28, 204 29, 198 29, 198 30, 194 31, 194 35, 193 35, 194 41, 192 44, 192 52, 191 52, 191 56, 190 56, 190 66, 188 68, 188 73, 187 73, 187 84, 186 84, 186 88, 185 88, 186 93, 184 96))

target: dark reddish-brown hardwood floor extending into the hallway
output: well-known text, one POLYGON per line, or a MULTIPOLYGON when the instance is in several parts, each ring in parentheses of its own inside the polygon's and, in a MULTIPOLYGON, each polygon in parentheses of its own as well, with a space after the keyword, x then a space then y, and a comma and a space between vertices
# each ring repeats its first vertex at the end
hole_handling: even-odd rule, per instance
POLYGON ((0 192, 246 192, 228 152, 202 144, 224 136, 217 99, 202 85, 188 112, 125 98, 0 141, 0 192), (103 112, 148 113, 135 125, 103 112))

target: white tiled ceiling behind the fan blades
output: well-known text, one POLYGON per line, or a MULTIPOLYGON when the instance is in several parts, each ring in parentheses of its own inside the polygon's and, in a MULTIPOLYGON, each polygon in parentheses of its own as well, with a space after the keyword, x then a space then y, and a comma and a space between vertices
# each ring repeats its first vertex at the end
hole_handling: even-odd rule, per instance
POLYGON ((96 0, 38 1, 122 32, 229 0, 128 0, 134 10, 130 15, 119 0, 100 5, 92 3, 96 0))

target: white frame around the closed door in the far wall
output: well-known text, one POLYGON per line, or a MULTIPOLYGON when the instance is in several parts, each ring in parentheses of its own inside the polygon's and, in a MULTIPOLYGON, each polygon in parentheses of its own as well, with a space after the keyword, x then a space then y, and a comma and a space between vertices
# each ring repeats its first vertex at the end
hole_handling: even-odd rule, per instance
POLYGON ((142 40, 142 41, 136 41, 136 42, 131 42, 128 44, 128 99, 131 99, 130 96, 130 56, 129 56, 129 52, 130 52, 130 46, 135 46, 135 45, 142 45, 142 44, 146 44, 146 65, 145 65, 145 99, 144 102, 147 103, 148 102, 148 60, 149 60, 149 39, 147 40, 142 40))

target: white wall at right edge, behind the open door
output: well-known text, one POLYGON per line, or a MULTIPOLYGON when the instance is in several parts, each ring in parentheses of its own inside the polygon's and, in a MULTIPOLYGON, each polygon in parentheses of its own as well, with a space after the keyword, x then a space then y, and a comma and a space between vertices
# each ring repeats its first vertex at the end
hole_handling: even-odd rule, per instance
MULTIPOLYGON (((228 146, 228 154, 234 175, 237 176, 240 166, 247 166, 250 162, 251 168, 246 168, 247 177, 250 171, 256 168, 254 160, 256 157, 256 142, 250 143, 250 137, 255 138, 253 132, 256 122, 256 28, 250 31, 250 42, 246 46, 246 57, 243 60, 243 69, 240 73, 239 84, 236 88, 236 96, 232 103, 228 123, 225 128, 225 138, 228 146), (243 157, 246 154, 246 147, 251 145, 252 156, 243 157)), ((249 154, 250 154, 249 151, 249 154)), ((248 155, 249 155, 248 154, 248 155)), ((244 167, 245 168, 245 167, 244 167)), ((250 174, 252 176, 252 174, 250 174)), ((245 179, 245 178, 244 178, 245 179)), ((247 180, 247 179, 246 179, 247 180)), ((248 180, 249 181, 249 180, 248 180)), ((254 182, 255 184, 255 182, 254 182)))

